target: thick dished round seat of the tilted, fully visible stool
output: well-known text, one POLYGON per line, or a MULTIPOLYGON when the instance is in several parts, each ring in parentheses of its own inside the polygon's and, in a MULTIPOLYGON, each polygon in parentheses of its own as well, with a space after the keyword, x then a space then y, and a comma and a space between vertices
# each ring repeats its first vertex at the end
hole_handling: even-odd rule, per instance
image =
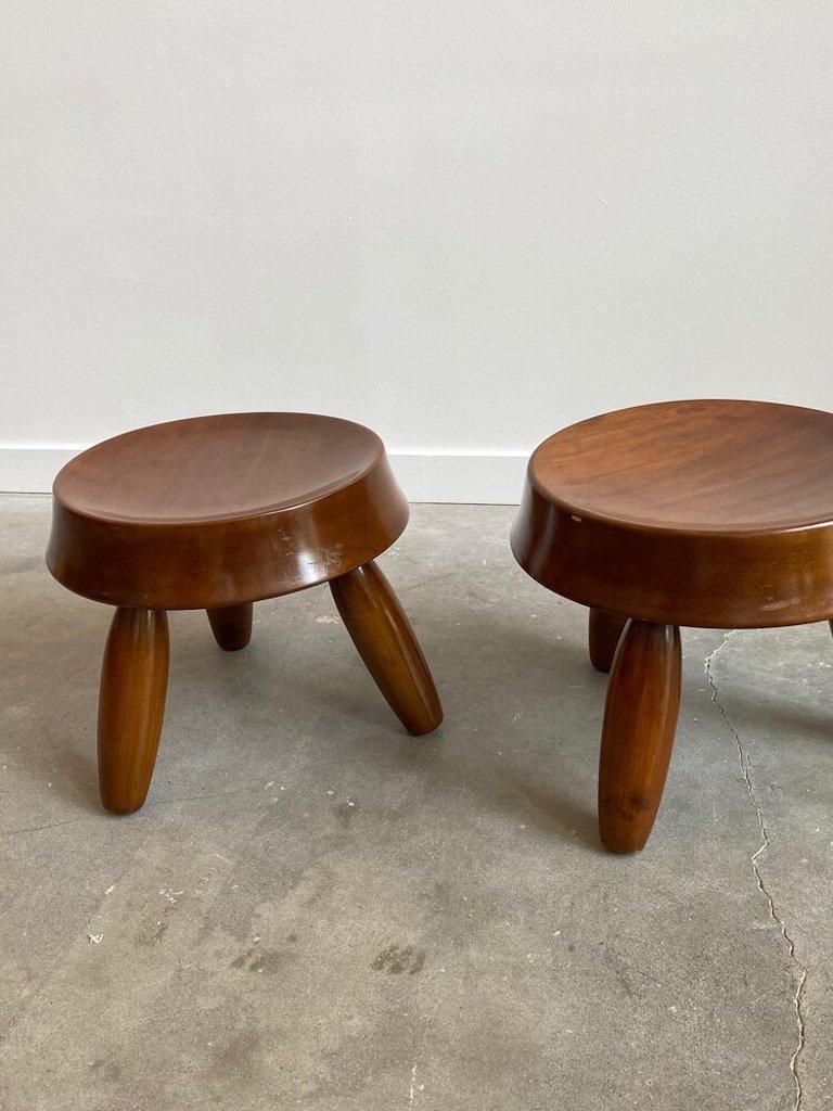
POLYGON ((408 503, 370 429, 229 413, 99 443, 53 487, 47 562, 121 607, 200 609, 335 579, 393 543, 408 503))

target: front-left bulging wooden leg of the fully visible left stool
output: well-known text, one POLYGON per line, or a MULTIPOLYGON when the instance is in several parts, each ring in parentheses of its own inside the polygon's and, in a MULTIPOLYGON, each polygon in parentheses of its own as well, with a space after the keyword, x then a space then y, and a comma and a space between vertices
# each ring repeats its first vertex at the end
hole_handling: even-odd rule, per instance
POLYGON ((119 609, 104 649, 99 693, 99 790, 117 814, 144 802, 168 690, 168 614, 119 609))

